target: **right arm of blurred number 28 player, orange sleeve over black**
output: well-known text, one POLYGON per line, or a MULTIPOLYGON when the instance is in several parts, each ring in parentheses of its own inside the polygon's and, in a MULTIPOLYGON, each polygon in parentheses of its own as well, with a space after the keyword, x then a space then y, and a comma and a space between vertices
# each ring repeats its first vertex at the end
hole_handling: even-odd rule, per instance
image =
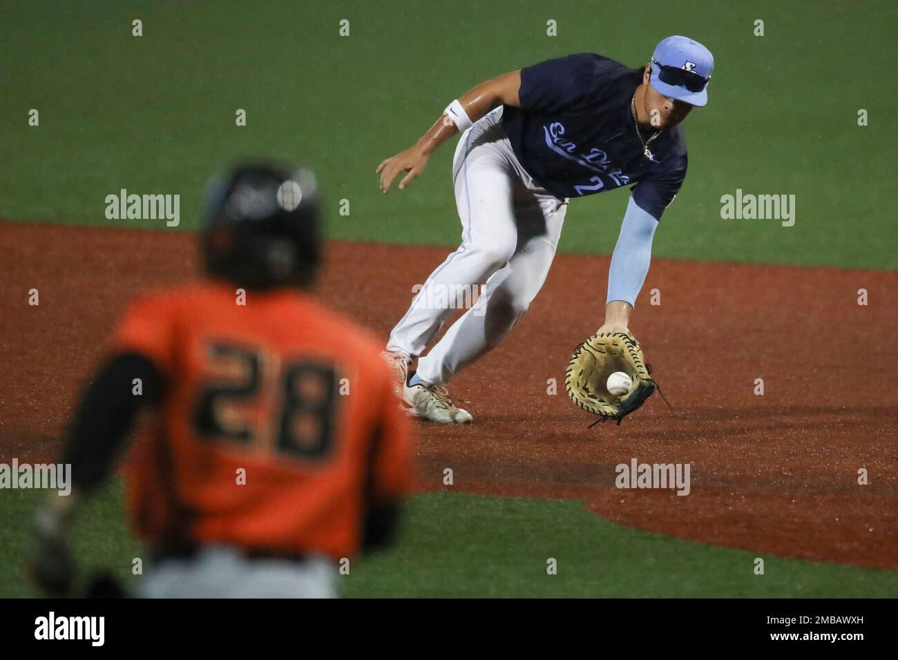
POLYGON ((408 416, 396 405, 388 374, 383 374, 380 420, 368 453, 362 549, 390 545, 396 536, 401 504, 414 479, 408 416))

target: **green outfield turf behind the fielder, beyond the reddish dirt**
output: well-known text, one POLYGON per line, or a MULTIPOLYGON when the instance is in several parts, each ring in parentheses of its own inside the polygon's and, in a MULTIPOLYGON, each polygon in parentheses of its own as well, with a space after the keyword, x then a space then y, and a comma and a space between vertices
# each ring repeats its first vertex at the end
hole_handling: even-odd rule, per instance
MULTIPOLYGON (((106 195, 181 194, 195 225, 223 163, 277 155, 313 164, 334 238, 457 243, 453 146, 412 188, 383 197, 374 168, 411 145, 480 81, 592 50, 637 65, 668 34, 715 54, 709 105, 687 120, 690 172, 656 236, 658 256, 898 268, 892 2, 484 4, 372 2, 4 3, 0 217, 130 224, 106 195), (144 36, 131 36, 143 21, 144 36), (349 36, 339 36, 339 21, 349 36), (546 36, 546 22, 558 36, 546 36), (753 35, 756 19, 764 36, 753 35), (29 127, 28 111, 40 111, 29 127), (237 109, 247 126, 235 126, 237 109), (869 126, 858 127, 858 110, 869 126), (720 198, 796 195, 792 227, 721 220, 720 198), (339 216, 339 200, 349 216, 339 216)), ((627 204, 616 192, 568 213, 562 251, 609 253, 627 204), (612 229, 613 227, 613 229, 612 229)), ((146 224, 159 223, 153 221, 146 224)))

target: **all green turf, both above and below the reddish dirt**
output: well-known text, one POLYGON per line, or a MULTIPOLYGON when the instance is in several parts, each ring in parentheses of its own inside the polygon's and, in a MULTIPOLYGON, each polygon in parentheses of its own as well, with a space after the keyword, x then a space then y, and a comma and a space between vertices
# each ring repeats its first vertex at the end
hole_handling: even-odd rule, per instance
MULTIPOLYGON (((764 0, 613 8, 594 0, 482 3, 96 2, 52 11, 4 2, 0 218, 163 228, 107 220, 119 189, 180 193, 197 225, 208 175, 238 158, 311 164, 331 238, 453 245, 459 224, 445 145, 405 191, 374 168, 411 145, 480 81, 549 57, 596 51, 634 66, 688 34, 716 57, 707 108, 685 125, 690 172, 656 234, 659 257, 898 268, 888 66, 894 2, 764 0), (143 36, 131 22, 143 22, 143 36), (349 21, 350 35, 339 36, 349 21), (754 21, 765 35, 753 36, 754 21), (546 35, 546 22, 558 36, 546 35), (40 111, 40 126, 28 125, 40 111), (235 125, 246 110, 247 126, 235 125), (869 126, 858 126, 858 110, 869 126), (736 189, 794 194, 797 221, 722 220, 736 189), (341 199, 350 213, 339 215, 341 199)), ((572 204, 561 251, 608 254, 627 193, 572 204)), ((0 225, 0 231, 3 231, 0 225)), ((171 230, 174 231, 174 230, 171 230)), ((21 572, 36 495, 0 506, 0 596, 32 595, 21 572)), ((88 565, 130 577, 140 548, 118 485, 81 518, 88 565)), ((765 558, 609 524, 579 502, 426 494, 395 549, 354 564, 354 596, 894 596, 898 573, 765 558), (575 532, 571 532, 576 530, 575 532), (558 559, 557 576, 546 560, 558 559)))

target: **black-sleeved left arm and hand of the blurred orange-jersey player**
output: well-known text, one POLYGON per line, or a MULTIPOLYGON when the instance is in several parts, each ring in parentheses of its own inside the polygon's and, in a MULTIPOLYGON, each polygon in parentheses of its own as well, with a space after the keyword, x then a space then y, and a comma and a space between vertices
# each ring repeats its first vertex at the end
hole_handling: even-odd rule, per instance
POLYGON ((68 431, 61 462, 70 465, 71 492, 54 494, 35 520, 37 548, 30 561, 31 576, 48 594, 66 595, 72 586, 75 563, 67 535, 80 499, 110 476, 137 414, 158 402, 163 377, 154 363, 136 353, 112 356, 101 366, 84 392, 68 431), (134 393, 140 379, 142 393, 134 393))

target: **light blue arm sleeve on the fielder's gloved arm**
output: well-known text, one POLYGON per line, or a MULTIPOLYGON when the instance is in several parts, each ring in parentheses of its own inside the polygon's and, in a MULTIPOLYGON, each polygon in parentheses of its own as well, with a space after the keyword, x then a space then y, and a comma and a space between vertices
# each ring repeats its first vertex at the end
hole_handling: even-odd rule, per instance
POLYGON ((648 264, 652 260, 652 238, 658 221, 629 198, 627 213, 621 223, 621 235, 612 254, 608 270, 608 299, 622 300, 636 306, 636 297, 646 281, 648 264))

